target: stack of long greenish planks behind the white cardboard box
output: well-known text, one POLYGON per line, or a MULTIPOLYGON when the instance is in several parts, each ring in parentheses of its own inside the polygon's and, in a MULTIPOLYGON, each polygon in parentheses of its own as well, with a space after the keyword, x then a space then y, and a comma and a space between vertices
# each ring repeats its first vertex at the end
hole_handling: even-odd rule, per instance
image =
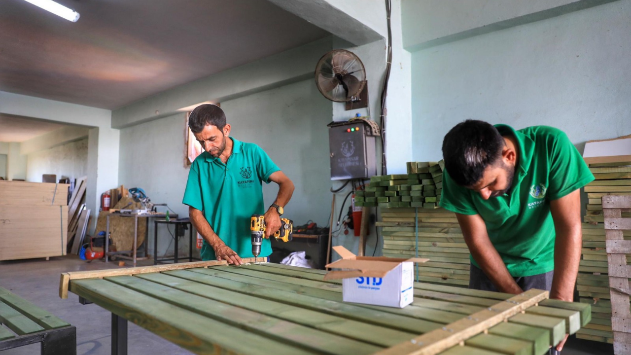
POLYGON ((384 240, 384 256, 416 256, 418 245, 418 256, 430 259, 415 268, 415 280, 468 286, 469 250, 453 212, 443 208, 382 209, 377 226, 384 240))

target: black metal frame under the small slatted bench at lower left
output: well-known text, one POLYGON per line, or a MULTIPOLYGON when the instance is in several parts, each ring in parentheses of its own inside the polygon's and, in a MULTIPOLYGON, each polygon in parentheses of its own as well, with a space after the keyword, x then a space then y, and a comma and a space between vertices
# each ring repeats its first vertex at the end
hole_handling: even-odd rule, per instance
POLYGON ((0 341, 0 351, 41 342, 42 355, 76 355, 76 327, 69 326, 52 330, 44 330, 21 337, 0 341))

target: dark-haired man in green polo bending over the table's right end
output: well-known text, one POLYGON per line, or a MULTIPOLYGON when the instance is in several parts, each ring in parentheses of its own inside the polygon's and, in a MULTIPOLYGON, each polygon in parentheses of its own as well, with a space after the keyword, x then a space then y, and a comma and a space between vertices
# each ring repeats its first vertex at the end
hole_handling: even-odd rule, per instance
MULTIPOLYGON (((579 189, 594 180, 556 128, 468 120, 447 133, 440 205, 471 252, 469 287, 547 289, 573 301, 581 258, 579 189)), ((563 344, 557 347, 560 351, 563 344)))

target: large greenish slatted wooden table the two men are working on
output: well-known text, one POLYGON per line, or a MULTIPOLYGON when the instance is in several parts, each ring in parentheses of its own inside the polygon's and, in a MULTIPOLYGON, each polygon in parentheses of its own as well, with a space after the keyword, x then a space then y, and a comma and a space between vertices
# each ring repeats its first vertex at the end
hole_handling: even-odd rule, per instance
MULTIPOLYGON (((260 259, 259 259, 260 260, 260 259)), ((112 354, 127 320, 195 354, 543 355, 591 320, 589 304, 416 282, 413 304, 344 303, 322 270, 223 261, 61 274, 112 312, 112 354)))

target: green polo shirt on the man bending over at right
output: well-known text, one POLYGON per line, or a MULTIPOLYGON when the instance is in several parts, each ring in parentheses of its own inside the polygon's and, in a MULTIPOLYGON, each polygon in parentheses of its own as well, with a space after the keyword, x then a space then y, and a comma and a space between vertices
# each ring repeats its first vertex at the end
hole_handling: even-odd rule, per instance
MULTIPOLYGON (((454 183, 445 171, 440 206, 457 214, 479 214, 510 275, 550 272, 554 270, 555 243, 550 201, 585 186, 594 176, 567 135, 557 128, 533 126, 516 131, 505 124, 495 127, 501 135, 517 140, 519 161, 512 189, 485 201, 480 193, 454 183)), ((479 267, 473 257, 471 262, 479 267)))

